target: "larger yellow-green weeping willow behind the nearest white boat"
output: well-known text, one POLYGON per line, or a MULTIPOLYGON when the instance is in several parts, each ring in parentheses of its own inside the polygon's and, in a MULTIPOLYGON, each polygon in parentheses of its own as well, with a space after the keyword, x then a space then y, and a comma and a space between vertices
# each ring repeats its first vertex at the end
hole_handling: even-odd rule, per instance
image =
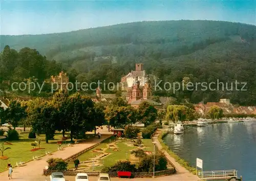
POLYGON ((187 107, 184 105, 168 105, 166 109, 166 120, 173 122, 186 120, 187 107))

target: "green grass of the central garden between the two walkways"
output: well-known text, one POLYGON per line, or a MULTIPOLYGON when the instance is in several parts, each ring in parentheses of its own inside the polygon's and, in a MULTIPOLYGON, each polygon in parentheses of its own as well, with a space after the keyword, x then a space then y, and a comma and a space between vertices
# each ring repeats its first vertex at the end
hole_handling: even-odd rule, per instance
MULTIPOLYGON (((111 138, 113 142, 114 141, 114 137, 111 138)), ((81 154, 78 159, 79 161, 88 161, 90 160, 90 158, 93 158, 101 153, 104 152, 92 152, 93 150, 95 150, 96 148, 108 148, 105 150, 105 153, 110 153, 109 155, 103 157, 100 160, 100 164, 102 164, 103 166, 99 166, 99 167, 95 167, 94 171, 100 171, 103 167, 109 167, 112 166, 114 164, 116 164, 119 160, 126 160, 130 158, 131 155, 131 150, 138 148, 135 146, 128 146, 125 144, 125 142, 129 142, 129 139, 124 139, 121 140, 121 142, 116 143, 118 149, 120 151, 113 151, 112 148, 108 148, 108 145, 110 143, 109 140, 105 140, 103 143, 101 143, 100 145, 98 145, 97 147, 81 154)), ((144 149, 145 151, 154 151, 154 145, 152 143, 151 139, 142 139, 142 144, 146 146, 146 148, 144 149)), ((74 168, 74 163, 73 162, 69 162, 69 168, 74 168)), ((90 169, 92 170, 92 168, 90 169)))

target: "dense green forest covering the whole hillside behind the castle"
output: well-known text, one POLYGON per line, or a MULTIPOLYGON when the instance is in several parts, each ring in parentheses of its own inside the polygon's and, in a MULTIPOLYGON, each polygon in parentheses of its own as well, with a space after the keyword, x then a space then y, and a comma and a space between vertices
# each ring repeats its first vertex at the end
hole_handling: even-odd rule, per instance
POLYGON ((168 82, 219 79, 228 82, 229 88, 236 80, 247 82, 247 91, 184 90, 174 94, 169 90, 156 91, 155 95, 192 103, 226 97, 234 104, 256 105, 256 27, 252 25, 207 20, 143 21, 0 38, 1 82, 32 76, 44 80, 60 70, 66 70, 71 81, 119 82, 135 63, 142 62, 147 73, 168 82))

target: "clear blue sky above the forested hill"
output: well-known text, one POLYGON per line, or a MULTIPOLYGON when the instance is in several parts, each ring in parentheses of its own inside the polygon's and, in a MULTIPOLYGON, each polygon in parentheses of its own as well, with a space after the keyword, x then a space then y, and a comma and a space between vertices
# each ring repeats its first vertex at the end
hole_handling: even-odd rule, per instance
POLYGON ((69 32, 144 20, 206 19, 256 25, 256 0, 0 1, 1 35, 69 32))

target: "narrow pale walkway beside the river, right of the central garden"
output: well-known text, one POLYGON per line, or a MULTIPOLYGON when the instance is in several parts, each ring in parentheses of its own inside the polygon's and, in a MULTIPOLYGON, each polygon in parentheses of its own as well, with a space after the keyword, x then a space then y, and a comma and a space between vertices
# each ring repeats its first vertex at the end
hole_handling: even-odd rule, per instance
MULTIPOLYGON (((158 140, 158 135, 164 131, 164 129, 158 129, 153 137, 153 140, 156 142, 156 146, 158 147, 158 149, 162 149, 162 145, 160 144, 159 140, 158 140)), ((165 156, 167 157, 167 159, 172 162, 177 170, 177 174, 175 175, 170 175, 170 176, 166 176, 166 178, 168 177, 169 180, 186 180, 186 181, 198 181, 199 178, 190 173, 188 170, 186 170, 184 167, 182 167, 178 162, 175 161, 175 159, 173 157, 171 157, 165 150, 163 150, 165 156)), ((162 177, 164 178, 164 177, 162 177)), ((162 180, 162 179, 159 179, 162 180)))

